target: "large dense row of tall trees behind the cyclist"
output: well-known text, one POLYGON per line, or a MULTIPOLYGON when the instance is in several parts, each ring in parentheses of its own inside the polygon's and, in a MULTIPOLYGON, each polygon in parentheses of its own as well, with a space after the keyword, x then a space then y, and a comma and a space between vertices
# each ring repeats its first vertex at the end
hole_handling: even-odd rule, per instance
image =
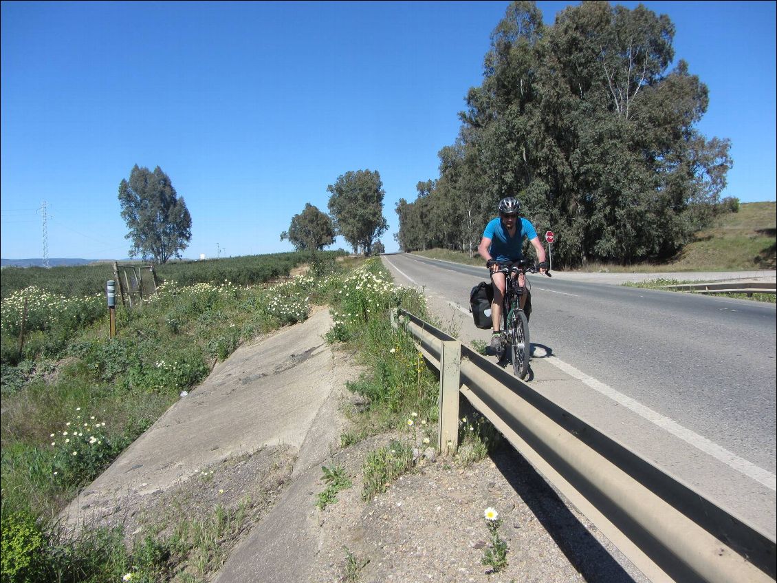
POLYGON ((514 196, 554 259, 629 263, 677 253, 716 213, 730 141, 697 124, 707 87, 674 60, 674 25, 639 5, 583 2, 542 23, 513 2, 491 35, 439 176, 396 204, 404 251, 473 253, 497 202, 514 196))

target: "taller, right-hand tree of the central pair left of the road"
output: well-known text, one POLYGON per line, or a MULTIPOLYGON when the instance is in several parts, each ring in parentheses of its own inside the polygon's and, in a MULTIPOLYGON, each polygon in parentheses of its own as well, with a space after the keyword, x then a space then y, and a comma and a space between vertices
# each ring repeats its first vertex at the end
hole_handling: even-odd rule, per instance
POLYGON ((348 171, 326 187, 329 212, 337 232, 354 248, 369 255, 372 243, 389 228, 383 216, 383 183, 377 170, 348 171))

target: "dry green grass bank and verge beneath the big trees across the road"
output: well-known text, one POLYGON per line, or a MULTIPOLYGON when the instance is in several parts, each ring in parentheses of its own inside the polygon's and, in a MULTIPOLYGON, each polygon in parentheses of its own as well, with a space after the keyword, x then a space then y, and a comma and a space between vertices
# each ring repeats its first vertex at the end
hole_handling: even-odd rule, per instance
MULTIPOLYGON (((777 267, 777 229, 775 202, 740 204, 739 211, 718 216, 709 229, 697 232, 677 257, 663 264, 643 262, 620 265, 591 262, 584 271, 610 273, 662 273, 671 271, 748 271, 777 267)), ((453 250, 416 251, 416 255, 483 266, 476 255, 453 250)), ((555 264, 556 269, 563 266, 555 264)))

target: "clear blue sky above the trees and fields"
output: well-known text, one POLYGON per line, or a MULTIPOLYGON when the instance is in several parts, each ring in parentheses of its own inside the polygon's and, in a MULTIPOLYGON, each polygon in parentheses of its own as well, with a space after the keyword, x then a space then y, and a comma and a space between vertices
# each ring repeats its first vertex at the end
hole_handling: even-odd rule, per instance
MULTIPOLYGON (((733 143, 723 196, 774 201, 775 2, 643 3, 709 86, 699 129, 733 143)), ((2 257, 42 255, 42 201, 49 257, 127 257, 134 164, 184 197, 184 257, 291 250, 291 217, 357 169, 396 250, 396 201, 437 178, 508 4, 2 2, 2 257)), ((538 2, 549 24, 577 4, 538 2)))

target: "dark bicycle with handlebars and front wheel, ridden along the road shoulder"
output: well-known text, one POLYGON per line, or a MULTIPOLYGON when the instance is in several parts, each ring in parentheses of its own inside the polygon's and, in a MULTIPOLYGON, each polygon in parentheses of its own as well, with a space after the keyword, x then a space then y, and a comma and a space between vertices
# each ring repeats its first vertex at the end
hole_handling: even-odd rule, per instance
MULTIPOLYGON (((529 260, 517 261, 508 267, 500 267, 493 273, 504 274, 504 296, 502 298, 502 330, 507 345, 510 347, 510 360, 513 362, 513 374, 523 380, 529 370, 529 358, 531 358, 531 343, 529 342, 529 321, 521 309, 521 295, 524 288, 518 284, 519 274, 540 273, 536 264, 529 260)), ((493 274, 492 274, 493 275, 493 274)), ((545 275, 551 277, 549 271, 545 275)), ((531 283, 524 277, 526 291, 531 290, 531 283)), ((507 350, 503 347, 500 354, 500 362, 505 359, 507 350)))

